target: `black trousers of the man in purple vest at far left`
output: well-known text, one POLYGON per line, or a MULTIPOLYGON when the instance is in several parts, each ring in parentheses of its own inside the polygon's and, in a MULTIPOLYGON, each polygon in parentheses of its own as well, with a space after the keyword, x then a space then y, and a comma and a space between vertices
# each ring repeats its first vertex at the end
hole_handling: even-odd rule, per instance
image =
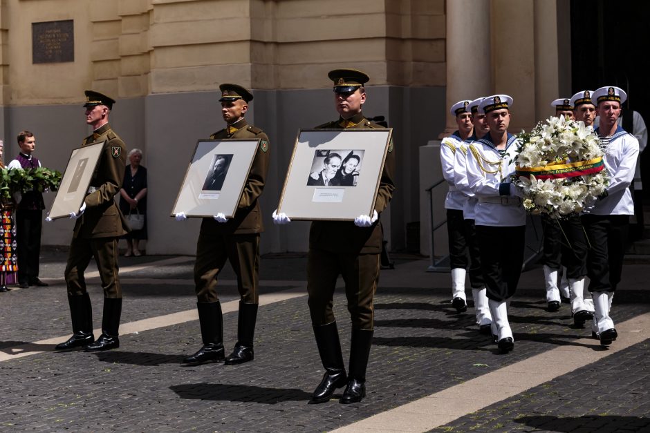
POLYGON ((43 211, 16 211, 18 282, 32 282, 38 278, 42 229, 43 211))

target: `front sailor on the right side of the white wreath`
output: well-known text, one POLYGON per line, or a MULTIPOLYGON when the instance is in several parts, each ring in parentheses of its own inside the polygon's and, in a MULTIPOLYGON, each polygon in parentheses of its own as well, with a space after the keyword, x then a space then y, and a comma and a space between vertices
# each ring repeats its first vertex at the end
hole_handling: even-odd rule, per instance
POLYGON ((591 100, 600 116, 596 132, 604 149, 604 164, 611 179, 606 192, 582 215, 591 249, 587 255, 589 291, 595 309, 595 336, 610 345, 618 334, 610 316, 611 300, 621 280, 623 255, 634 204, 629 186, 634 178, 639 142, 617 121, 627 95, 615 86, 595 90, 591 100))

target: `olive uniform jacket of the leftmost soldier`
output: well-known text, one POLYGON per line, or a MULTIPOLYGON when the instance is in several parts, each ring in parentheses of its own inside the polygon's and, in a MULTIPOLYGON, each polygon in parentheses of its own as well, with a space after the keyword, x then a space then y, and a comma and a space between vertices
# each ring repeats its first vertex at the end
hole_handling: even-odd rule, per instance
POLYGON ((115 195, 122 188, 127 168, 124 142, 109 124, 97 128, 84 139, 82 146, 104 142, 104 150, 95 167, 90 186, 95 189, 86 195, 86 211, 75 224, 74 236, 82 238, 110 238, 124 235, 129 226, 115 204, 115 195))

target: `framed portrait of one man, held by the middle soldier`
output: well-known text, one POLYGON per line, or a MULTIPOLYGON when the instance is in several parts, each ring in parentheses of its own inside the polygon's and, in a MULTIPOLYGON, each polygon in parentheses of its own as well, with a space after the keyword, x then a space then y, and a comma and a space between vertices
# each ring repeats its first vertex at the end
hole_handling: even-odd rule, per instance
POLYGON ((259 139, 201 139, 196 143, 171 216, 207 218, 223 213, 232 218, 259 139))

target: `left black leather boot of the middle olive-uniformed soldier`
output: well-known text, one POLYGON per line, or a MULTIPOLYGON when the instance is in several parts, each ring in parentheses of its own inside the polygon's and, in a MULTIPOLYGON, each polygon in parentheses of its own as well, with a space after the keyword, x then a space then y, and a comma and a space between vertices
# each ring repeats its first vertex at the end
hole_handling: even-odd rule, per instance
POLYGON ((221 302, 196 302, 203 347, 183 359, 183 364, 200 365, 223 361, 223 314, 221 302))

